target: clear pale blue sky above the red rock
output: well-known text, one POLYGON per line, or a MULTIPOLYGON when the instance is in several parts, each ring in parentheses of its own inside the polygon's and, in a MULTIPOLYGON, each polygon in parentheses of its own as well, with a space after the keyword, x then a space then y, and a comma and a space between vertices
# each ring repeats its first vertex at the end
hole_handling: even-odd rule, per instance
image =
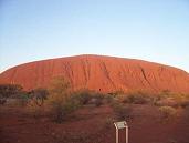
POLYGON ((189 72, 188 0, 0 0, 0 71, 105 54, 189 72))

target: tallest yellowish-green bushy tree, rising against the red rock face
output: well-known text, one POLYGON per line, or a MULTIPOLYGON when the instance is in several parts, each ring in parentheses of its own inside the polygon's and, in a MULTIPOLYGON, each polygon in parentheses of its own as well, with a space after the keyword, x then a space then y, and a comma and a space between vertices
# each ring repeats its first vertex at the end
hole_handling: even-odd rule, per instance
POLYGON ((69 89, 70 83, 63 76, 53 79, 49 86, 48 103, 51 106, 53 120, 57 123, 65 120, 66 115, 77 108, 77 103, 72 100, 69 89))

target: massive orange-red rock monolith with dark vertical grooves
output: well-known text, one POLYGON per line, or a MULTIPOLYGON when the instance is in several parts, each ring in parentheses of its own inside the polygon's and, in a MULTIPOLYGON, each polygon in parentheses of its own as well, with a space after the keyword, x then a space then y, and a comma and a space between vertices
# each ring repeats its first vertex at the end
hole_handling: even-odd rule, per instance
POLYGON ((180 69, 105 55, 76 55, 21 64, 1 73, 0 83, 17 83, 30 90, 48 86, 57 75, 65 76, 75 90, 189 93, 189 74, 180 69))

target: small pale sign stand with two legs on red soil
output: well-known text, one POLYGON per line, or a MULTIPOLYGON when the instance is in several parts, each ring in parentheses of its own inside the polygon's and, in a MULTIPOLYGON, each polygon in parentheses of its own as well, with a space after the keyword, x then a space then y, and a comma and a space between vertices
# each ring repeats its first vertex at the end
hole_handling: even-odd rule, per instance
POLYGON ((116 127, 116 143, 118 143, 118 130, 125 129, 125 142, 128 143, 128 126, 126 121, 115 122, 114 123, 116 127))

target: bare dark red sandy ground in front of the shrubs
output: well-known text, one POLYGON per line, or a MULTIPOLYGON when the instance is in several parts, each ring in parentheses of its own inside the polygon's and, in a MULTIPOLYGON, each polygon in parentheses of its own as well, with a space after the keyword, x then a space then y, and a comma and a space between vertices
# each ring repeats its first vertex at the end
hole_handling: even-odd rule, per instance
MULTIPOLYGON (((189 143, 189 110, 162 123, 156 106, 134 105, 133 116, 128 121, 129 143, 189 143)), ((111 118, 109 106, 85 106, 56 124, 45 115, 35 119, 21 108, 1 106, 0 143, 115 143, 111 118)))

